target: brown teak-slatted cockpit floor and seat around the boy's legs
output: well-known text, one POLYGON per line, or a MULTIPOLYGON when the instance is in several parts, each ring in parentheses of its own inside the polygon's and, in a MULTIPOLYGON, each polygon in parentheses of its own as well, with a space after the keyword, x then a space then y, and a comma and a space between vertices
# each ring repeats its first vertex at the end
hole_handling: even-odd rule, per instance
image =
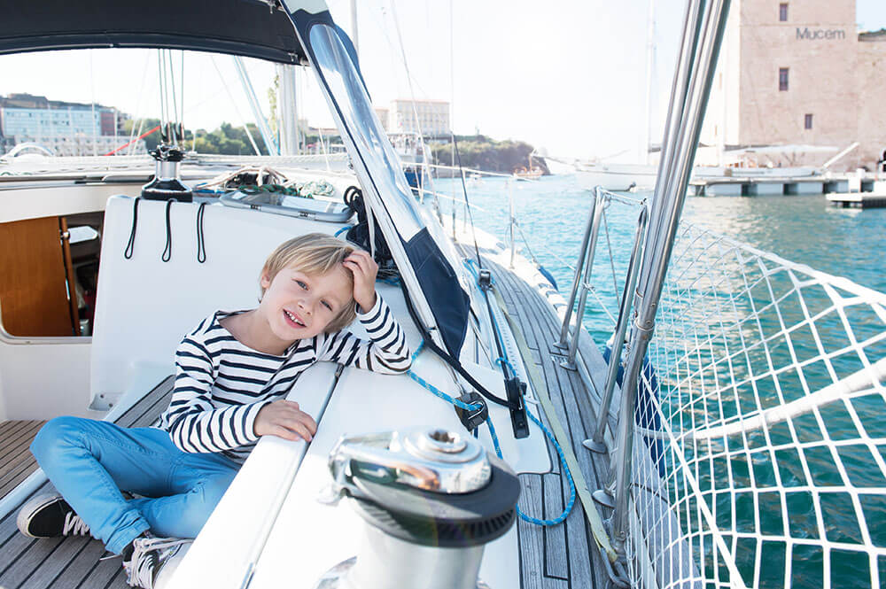
MULTIPOLYGON (((152 391, 130 407, 115 422, 124 427, 144 427, 157 420, 160 413, 167 407, 172 394, 173 377, 169 376, 152 391)), ((2 427, 7 426, 5 422, 2 427)), ((15 423, 15 422, 13 422, 15 423)), ((22 422, 18 422, 22 423, 22 422)), ((21 480, 27 478, 36 469, 33 457, 27 446, 36 435, 43 422, 25 422, 30 438, 27 444, 23 441, 10 447, 17 450, 15 457, 9 455, 10 461, 26 463, 30 468, 21 480)), ((8 430, 2 430, 6 432, 8 430)), ((22 431, 22 435, 25 431, 22 431)), ((4 438, 4 457, 6 461, 6 438, 4 438)), ((53 492, 50 483, 43 484, 31 496, 53 492)), ((9 490, 4 490, 4 495, 9 490)), ((27 500, 27 499, 26 499, 27 500)), ((22 501, 24 503, 24 501, 22 501)), ((105 546, 96 539, 90 538, 54 538, 32 539, 19 533, 16 527, 16 515, 19 508, 12 509, 9 515, 0 520, 0 587, 4 589, 74 589, 83 587, 117 588, 127 587, 126 577, 120 566, 120 559, 99 561, 105 555, 105 546)))

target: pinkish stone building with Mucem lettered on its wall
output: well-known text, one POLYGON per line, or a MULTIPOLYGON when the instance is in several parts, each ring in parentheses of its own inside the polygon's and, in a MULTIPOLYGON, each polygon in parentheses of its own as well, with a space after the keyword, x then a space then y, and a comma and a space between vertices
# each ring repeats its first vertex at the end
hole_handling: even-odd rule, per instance
POLYGON ((874 169, 886 149, 886 30, 859 33, 855 2, 733 1, 696 163, 820 166, 859 142, 832 169, 874 169), (782 149, 747 149, 764 146, 782 149))

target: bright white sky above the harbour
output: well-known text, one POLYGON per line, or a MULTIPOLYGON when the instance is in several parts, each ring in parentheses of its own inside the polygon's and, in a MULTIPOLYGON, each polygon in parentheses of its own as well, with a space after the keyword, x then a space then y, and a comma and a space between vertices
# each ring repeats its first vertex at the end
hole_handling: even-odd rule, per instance
MULTIPOLYGON (((648 120, 649 0, 552 0, 544 10, 528 0, 357 4, 361 68, 376 105, 412 96, 450 100, 459 134, 524 140, 565 157, 638 158, 648 120)), ((330 0, 329 6, 338 24, 353 33, 349 0, 330 0)), ((683 8, 681 0, 657 0, 649 84, 652 141, 661 135, 683 8)), ((886 1, 857 0, 857 21, 863 30, 886 27, 886 1)), ((175 52, 176 72, 180 55, 175 52)), ((275 67, 245 61, 267 115, 275 67)), ((302 116, 331 127, 311 75, 299 74, 302 116)), ((176 89, 176 97, 183 100, 186 127, 253 120, 229 56, 186 54, 184 77, 183 96, 176 89)), ((135 117, 159 116, 158 80, 156 51, 0 57, 0 95, 95 101, 135 117)))

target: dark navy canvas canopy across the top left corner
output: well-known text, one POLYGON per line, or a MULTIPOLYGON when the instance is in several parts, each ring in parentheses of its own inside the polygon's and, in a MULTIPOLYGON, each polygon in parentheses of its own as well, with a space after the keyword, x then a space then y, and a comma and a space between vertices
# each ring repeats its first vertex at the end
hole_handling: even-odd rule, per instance
POLYGON ((273 0, 3 2, 0 54, 142 47, 299 64, 305 55, 299 36, 276 4, 273 0))

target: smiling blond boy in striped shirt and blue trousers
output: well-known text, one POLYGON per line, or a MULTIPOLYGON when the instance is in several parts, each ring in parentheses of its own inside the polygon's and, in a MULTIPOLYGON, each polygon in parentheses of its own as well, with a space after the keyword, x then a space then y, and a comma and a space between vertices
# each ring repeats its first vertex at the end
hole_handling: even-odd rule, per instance
POLYGON ((29 501, 19 530, 91 533, 122 555, 129 585, 151 589, 260 437, 313 438, 314 419, 284 399, 309 366, 408 370, 406 337, 375 291, 377 269, 367 252, 324 234, 280 245, 261 269, 259 306, 217 311, 184 337, 158 428, 77 417, 43 426, 31 451, 61 495, 29 501), (368 341, 341 330, 355 317, 368 341))

